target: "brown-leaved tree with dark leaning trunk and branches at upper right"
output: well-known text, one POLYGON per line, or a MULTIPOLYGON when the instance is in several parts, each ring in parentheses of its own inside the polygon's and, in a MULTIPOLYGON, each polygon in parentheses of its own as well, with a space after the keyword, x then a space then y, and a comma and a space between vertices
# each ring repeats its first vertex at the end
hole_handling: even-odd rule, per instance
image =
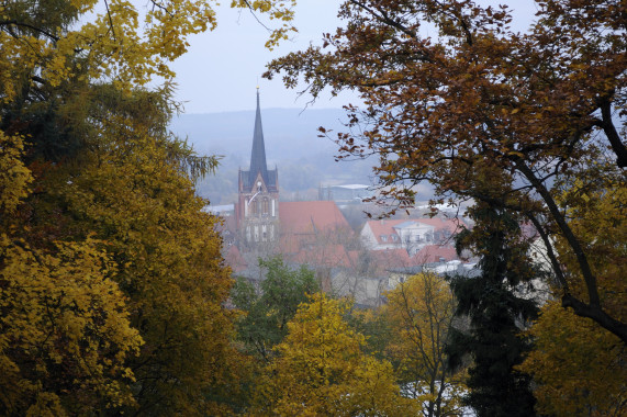
POLYGON ((359 92, 366 108, 348 106, 340 157, 377 155, 383 195, 401 206, 426 180, 441 199, 524 215, 548 248, 562 305, 627 342, 625 318, 608 313, 617 295, 601 294, 591 251, 555 187, 595 164, 613 165, 604 172, 611 179, 624 176, 627 150, 616 123, 626 103, 625 8, 619 0, 542 1, 520 34, 504 5, 347 0, 339 10, 346 27, 325 35, 323 48, 276 59, 267 76, 282 72, 288 87, 303 76, 314 98, 325 87, 359 92), (437 38, 422 34, 424 22, 437 38), (494 182, 478 187, 486 172, 494 182), (556 238, 566 244, 559 252, 556 238), (564 256, 576 269, 563 268, 564 256), (584 293, 572 292, 576 281, 584 293))

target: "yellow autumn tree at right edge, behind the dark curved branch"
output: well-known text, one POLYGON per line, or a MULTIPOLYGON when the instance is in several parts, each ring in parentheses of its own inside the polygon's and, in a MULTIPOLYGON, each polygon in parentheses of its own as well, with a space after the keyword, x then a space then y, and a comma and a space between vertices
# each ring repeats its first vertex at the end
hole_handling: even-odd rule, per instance
MULTIPOLYGON (((595 166, 592 170, 606 169, 595 166)), ((575 179, 563 184, 564 198, 571 203, 567 215, 575 233, 592 249, 591 264, 602 278, 604 292, 625 294, 627 282, 622 266, 627 262, 623 243, 627 238, 627 199, 625 183, 603 182, 607 176, 587 172, 591 179, 575 179)), ((557 241, 557 246, 563 245, 557 241)), ((566 258, 567 266, 575 259, 566 258)), ((573 286, 573 292, 584 289, 573 286)), ((625 317, 625 303, 608 305, 615 315, 625 317)), ((615 335, 596 323, 563 311, 556 301, 542 306, 540 316, 527 331, 535 348, 519 367, 534 377, 534 395, 540 413, 555 416, 619 416, 627 412, 626 352, 615 335)))

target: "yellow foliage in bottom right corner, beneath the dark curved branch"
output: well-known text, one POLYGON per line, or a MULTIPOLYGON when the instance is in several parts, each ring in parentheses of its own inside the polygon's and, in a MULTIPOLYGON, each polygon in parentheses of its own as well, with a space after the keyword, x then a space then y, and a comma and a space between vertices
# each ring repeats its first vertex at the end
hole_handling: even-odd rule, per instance
POLYGON ((529 330, 535 348, 519 369, 533 374, 542 415, 623 416, 627 413, 625 346, 590 319, 549 302, 529 330))

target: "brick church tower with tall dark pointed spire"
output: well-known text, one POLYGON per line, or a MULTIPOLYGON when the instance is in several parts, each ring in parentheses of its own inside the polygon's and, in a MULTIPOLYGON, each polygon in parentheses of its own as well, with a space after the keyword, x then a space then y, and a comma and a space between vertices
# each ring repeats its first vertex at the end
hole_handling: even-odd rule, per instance
POLYGON ((239 170, 237 223, 242 240, 247 246, 278 240, 279 235, 279 170, 268 170, 266 145, 259 109, 257 88, 257 112, 253 132, 250 168, 239 170))

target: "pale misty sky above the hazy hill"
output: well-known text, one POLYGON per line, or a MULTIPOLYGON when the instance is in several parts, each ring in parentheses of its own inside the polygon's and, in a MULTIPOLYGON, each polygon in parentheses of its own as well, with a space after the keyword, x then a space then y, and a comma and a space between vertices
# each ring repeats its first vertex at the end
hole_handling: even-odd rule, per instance
MULTIPOLYGON (((228 8, 225 0, 217 8, 219 25, 190 38, 189 52, 173 64, 177 72, 178 100, 184 102, 186 113, 215 113, 251 110, 255 106, 255 88, 261 92, 261 105, 270 108, 304 109, 309 97, 298 99, 295 90, 287 90, 279 78, 268 81, 261 78, 266 64, 275 57, 306 47, 320 45, 322 34, 332 32, 342 24, 337 19, 340 0, 299 0, 295 25, 299 33, 290 42, 283 42, 275 50, 264 47, 268 33, 247 11, 228 8)), ((480 1, 499 4, 503 1, 480 1)), ((536 7, 533 1, 517 0, 515 9, 516 30, 524 30, 536 7)), ((268 21, 265 21, 268 23, 268 21)), ((271 24, 271 22, 269 22, 271 24)), ((314 109, 342 108, 359 100, 351 94, 331 99, 323 97, 314 109)))

